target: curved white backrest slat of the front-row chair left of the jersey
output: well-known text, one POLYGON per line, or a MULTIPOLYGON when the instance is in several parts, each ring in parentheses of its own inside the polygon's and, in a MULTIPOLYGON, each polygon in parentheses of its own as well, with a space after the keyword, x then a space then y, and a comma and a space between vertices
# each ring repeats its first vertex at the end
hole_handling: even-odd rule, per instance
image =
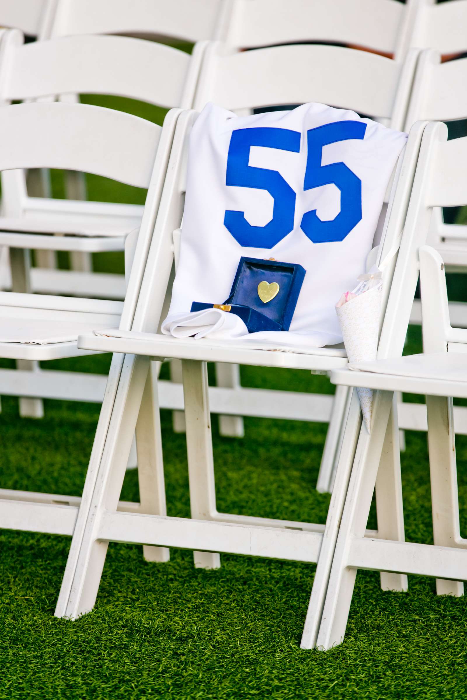
POLYGON ((63 168, 147 188, 161 127, 85 104, 39 102, 0 109, 0 170, 63 168))

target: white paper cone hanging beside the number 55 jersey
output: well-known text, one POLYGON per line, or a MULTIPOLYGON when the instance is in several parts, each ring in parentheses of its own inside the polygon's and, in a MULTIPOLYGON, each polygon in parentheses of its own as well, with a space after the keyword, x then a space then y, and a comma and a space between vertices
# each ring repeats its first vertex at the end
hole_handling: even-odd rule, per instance
MULTIPOLYGON (((382 286, 379 284, 335 307, 349 362, 376 360, 382 286)), ((357 388, 365 426, 370 432, 372 389, 357 388)))

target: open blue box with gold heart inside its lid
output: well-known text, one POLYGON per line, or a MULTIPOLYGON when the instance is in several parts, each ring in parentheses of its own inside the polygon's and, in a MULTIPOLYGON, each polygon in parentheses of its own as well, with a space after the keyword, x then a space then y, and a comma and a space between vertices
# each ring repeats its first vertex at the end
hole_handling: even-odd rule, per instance
MULTIPOLYGON (((293 262, 242 257, 228 299, 215 306, 240 316, 250 333, 288 330, 305 273, 302 265, 293 262)), ((191 311, 212 307, 193 302, 191 311)))

